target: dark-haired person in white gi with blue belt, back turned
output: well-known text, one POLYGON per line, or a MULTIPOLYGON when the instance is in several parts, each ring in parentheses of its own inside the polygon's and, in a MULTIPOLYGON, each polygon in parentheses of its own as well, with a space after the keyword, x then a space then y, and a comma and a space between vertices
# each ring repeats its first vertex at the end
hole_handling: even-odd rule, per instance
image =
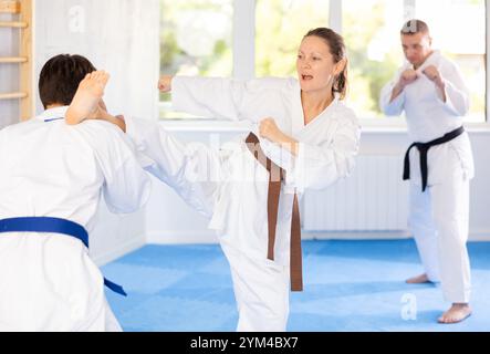
POLYGON ((45 111, 0 131, 0 332, 121 331, 104 284, 125 292, 91 259, 88 236, 102 195, 111 211, 134 212, 150 180, 113 124, 65 124, 90 73, 81 90, 102 98, 106 73, 83 56, 51 59, 39 81, 45 111))

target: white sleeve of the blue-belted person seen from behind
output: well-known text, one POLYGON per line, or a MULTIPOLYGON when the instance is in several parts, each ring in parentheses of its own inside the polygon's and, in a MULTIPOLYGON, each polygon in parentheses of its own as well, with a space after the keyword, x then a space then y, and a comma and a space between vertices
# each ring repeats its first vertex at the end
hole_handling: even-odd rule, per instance
MULTIPOLYGON (((108 131, 108 129, 107 129, 108 131)), ((103 171, 103 188, 107 208, 115 214, 140 209, 150 194, 150 179, 139 166, 133 144, 122 132, 111 129, 96 156, 103 171)))

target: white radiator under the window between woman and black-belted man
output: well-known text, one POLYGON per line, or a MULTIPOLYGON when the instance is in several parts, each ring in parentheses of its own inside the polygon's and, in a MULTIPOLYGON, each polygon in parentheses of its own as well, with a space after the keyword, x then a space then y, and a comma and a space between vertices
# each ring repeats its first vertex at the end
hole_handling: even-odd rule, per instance
POLYGON ((407 229, 408 183, 396 156, 359 156, 353 174, 303 198, 305 231, 392 231, 407 229))

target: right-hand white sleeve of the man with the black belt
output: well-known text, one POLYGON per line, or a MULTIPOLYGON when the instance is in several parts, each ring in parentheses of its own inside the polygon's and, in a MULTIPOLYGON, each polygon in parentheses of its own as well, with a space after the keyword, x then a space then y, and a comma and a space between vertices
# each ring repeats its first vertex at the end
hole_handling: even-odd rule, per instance
POLYGON ((469 90, 462 80, 462 75, 455 64, 441 72, 445 82, 446 102, 438 92, 439 100, 451 115, 465 116, 470 108, 469 90))

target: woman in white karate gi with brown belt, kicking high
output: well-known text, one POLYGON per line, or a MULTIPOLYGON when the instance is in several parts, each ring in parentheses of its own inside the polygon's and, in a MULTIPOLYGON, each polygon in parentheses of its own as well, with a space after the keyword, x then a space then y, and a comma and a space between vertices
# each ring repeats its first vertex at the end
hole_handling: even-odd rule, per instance
MULTIPOLYGON (((219 231, 231 267, 238 331, 285 331, 295 192, 326 188, 354 167, 359 126, 342 101, 346 67, 343 39, 330 29, 316 29, 301 43, 299 80, 160 80, 160 90, 171 90, 177 110, 259 124, 252 129, 264 154, 285 170, 273 261, 268 258, 269 173, 244 137, 215 150, 183 144, 155 123, 126 118, 127 134, 155 162, 149 171, 208 216, 209 227, 219 231)), ((67 118, 77 123, 76 117, 67 118)))

